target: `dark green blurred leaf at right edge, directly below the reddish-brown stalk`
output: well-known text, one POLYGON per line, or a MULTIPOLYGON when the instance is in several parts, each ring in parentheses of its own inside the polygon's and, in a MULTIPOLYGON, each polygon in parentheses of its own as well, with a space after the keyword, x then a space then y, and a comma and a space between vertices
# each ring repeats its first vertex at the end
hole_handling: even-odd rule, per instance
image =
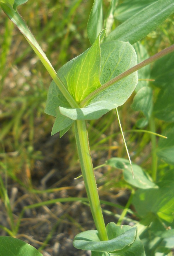
POLYGON ((151 78, 157 87, 171 86, 174 82, 174 52, 158 59, 154 62, 151 70, 151 78), (165 63, 165 65, 164 65, 165 63))

